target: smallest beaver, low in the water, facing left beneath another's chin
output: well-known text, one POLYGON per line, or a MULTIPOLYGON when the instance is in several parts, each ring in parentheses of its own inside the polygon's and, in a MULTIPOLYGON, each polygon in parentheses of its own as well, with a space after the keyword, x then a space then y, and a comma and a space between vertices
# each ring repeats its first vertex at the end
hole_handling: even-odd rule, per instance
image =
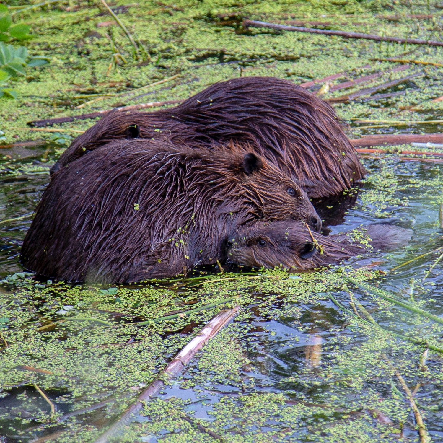
POLYGON ((373 224, 323 237, 301 221, 258 221, 228 236, 226 256, 231 264, 301 271, 336 264, 368 250, 399 249, 411 236, 411 229, 373 224))

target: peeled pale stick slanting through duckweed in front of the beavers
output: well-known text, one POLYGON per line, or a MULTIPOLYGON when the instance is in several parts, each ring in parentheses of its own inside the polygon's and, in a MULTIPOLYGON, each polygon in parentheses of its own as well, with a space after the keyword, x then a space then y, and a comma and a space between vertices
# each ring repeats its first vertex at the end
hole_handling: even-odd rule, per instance
POLYGON ((233 309, 220 311, 198 334, 194 337, 159 373, 155 380, 140 394, 136 402, 133 403, 120 420, 114 423, 104 434, 102 434, 94 443, 107 443, 108 439, 118 433, 120 428, 128 424, 137 412, 143 408, 144 402, 156 396, 165 386, 164 381, 171 380, 177 376, 183 368, 192 360, 194 355, 205 346, 206 342, 218 334, 223 326, 229 323, 239 310, 239 306, 233 309))

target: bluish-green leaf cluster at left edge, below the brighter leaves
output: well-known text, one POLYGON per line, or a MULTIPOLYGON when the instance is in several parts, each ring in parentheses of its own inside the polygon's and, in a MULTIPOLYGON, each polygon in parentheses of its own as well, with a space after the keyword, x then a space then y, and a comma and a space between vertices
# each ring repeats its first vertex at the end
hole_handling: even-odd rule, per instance
POLYGON ((37 55, 28 58, 27 49, 24 46, 15 48, 0 41, 0 97, 6 95, 11 98, 17 98, 17 91, 9 88, 7 81, 11 77, 19 77, 26 74, 25 66, 35 67, 48 64, 49 61, 46 57, 37 55))

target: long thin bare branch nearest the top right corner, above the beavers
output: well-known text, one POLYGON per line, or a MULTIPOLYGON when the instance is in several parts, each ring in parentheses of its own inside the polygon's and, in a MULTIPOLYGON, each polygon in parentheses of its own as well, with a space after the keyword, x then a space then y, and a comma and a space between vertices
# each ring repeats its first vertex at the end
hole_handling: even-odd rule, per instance
POLYGON ((427 45, 427 46, 443 46, 443 42, 437 42, 434 40, 421 40, 421 39, 402 39, 400 37, 385 37, 384 35, 362 34, 360 32, 348 32, 348 31, 330 31, 328 29, 314 29, 305 28, 299 26, 286 26, 276 23, 259 22, 256 20, 243 20, 243 27, 263 27, 276 29, 277 31, 295 31, 295 32, 308 32, 309 34, 322 34, 322 35, 338 35, 345 39, 365 39, 375 40, 377 42, 395 42, 395 43, 409 43, 412 45, 427 45))

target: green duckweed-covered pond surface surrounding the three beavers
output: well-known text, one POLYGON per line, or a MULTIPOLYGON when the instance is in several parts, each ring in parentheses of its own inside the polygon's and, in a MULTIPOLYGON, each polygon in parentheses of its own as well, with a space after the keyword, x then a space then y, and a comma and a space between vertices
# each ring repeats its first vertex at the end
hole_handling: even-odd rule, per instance
POLYGON ((443 4, 108 2, 133 44, 101 1, 4 4, 11 26, 28 25, 32 35, 6 44, 26 47, 27 62, 49 64, 2 80, 17 98, 0 98, 0 442, 93 442, 233 306, 233 322, 114 441, 443 441, 441 148, 365 153, 361 189, 317 202, 331 233, 380 221, 413 230, 406 248, 340 266, 301 274, 207 268, 103 286, 36 279, 17 260, 49 167, 95 120, 34 130, 28 122, 276 76, 311 82, 331 102, 375 88, 333 104, 352 139, 439 133, 441 47, 244 29, 241 21, 442 41, 443 4), (387 58, 424 63, 380 61, 387 58))

